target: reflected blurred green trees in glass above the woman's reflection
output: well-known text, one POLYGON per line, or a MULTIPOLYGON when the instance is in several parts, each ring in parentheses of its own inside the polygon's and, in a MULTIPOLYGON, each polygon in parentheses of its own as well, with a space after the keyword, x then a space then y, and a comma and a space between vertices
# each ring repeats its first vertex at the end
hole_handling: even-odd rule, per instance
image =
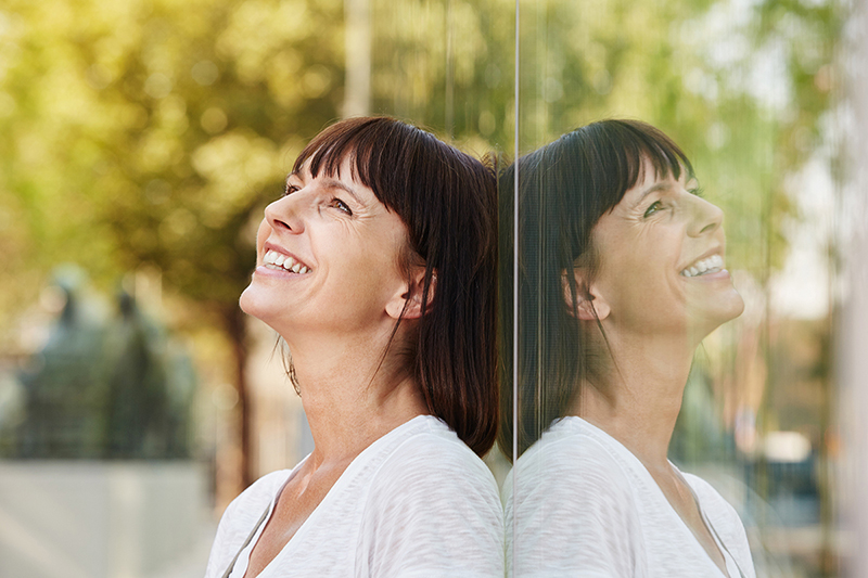
POLYGON ((723 204, 739 268, 780 265, 783 179, 830 138, 837 3, 552 0, 522 9, 525 151, 604 117, 665 127, 723 204))

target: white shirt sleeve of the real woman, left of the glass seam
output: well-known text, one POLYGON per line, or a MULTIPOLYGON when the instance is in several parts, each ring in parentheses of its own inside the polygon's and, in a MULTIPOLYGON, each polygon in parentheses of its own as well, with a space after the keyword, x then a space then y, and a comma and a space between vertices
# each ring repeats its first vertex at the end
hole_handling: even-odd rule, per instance
POLYGON ((408 440, 378 472, 365 508, 358 575, 503 576, 494 476, 458 440, 408 440))

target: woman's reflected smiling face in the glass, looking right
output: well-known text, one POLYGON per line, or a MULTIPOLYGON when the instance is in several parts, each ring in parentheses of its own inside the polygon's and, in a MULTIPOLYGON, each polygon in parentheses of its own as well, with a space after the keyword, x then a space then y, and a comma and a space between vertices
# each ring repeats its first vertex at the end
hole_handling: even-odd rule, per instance
POLYGON ((698 196, 698 183, 643 178, 597 222, 595 280, 609 321, 631 333, 676 332, 702 339, 744 308, 725 268, 723 211, 698 196))

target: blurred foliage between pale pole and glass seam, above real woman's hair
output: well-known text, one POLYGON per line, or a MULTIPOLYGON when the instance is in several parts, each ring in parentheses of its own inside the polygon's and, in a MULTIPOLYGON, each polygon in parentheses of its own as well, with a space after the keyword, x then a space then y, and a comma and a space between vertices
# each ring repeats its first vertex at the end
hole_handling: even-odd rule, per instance
POLYGON ((464 142, 511 147, 514 4, 371 0, 372 112, 464 142))

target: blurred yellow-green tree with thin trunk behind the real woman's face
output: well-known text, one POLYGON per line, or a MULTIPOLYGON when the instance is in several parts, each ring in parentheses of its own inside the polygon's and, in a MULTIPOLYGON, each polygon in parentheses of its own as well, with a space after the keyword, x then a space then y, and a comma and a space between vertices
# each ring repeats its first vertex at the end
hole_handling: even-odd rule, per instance
POLYGON ((281 193, 305 141, 337 116, 341 9, 339 0, 5 2, 7 319, 58 259, 103 283, 155 268, 191 304, 183 322, 213 324, 232 344, 247 448, 238 296, 261 207, 281 193))

